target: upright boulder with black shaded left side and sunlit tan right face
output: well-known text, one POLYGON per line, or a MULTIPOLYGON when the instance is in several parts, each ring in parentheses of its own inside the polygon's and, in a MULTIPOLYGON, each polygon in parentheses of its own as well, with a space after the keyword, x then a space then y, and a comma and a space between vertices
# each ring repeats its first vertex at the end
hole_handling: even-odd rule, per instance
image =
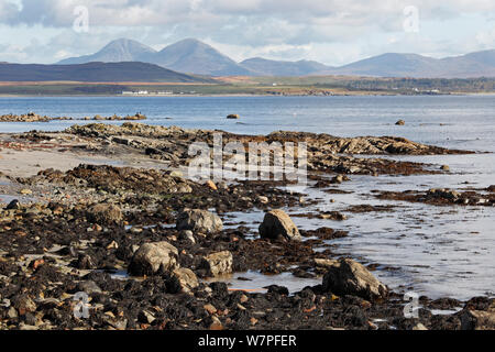
POLYGON ((285 211, 275 209, 265 213, 258 228, 263 239, 285 238, 287 240, 300 241, 301 237, 294 221, 285 211))

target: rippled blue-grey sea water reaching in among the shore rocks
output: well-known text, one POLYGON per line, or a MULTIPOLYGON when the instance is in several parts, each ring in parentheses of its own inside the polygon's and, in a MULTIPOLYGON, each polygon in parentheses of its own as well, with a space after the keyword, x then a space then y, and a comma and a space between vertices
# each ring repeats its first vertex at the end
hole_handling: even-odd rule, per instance
MULTIPOLYGON (((140 111, 148 117, 146 123, 150 124, 220 129, 246 134, 292 130, 341 136, 396 135, 450 148, 490 152, 475 155, 394 156, 394 160, 430 163, 435 168, 447 164, 450 173, 407 177, 351 176, 352 180, 339 188, 352 194, 328 195, 306 189, 310 197, 321 198, 322 202, 304 210, 288 211, 343 211, 349 217, 345 221, 296 217, 294 221, 305 230, 331 227, 349 231, 348 238, 329 242, 332 251, 352 253, 364 263, 381 264, 374 274, 394 289, 413 290, 432 298, 451 296, 468 299, 476 295, 494 295, 494 208, 435 207, 378 200, 371 195, 373 189, 462 189, 495 184, 494 96, 0 98, 1 114, 28 111, 77 118, 97 113, 124 116, 140 111), (229 113, 239 113, 241 120, 227 120, 229 113), (406 125, 395 125, 399 119, 405 120, 406 125), (332 198, 336 202, 330 202, 332 198), (362 204, 393 205, 395 208, 392 212, 345 212, 350 205, 362 204)), ((62 130, 73 123, 75 121, 0 123, 0 132, 62 130)), ((254 210, 231 213, 226 221, 245 221, 255 235, 262 219, 263 212, 254 210)), ((304 279, 284 275, 288 276, 280 277, 280 284, 290 285, 292 292, 307 285, 304 279)), ((278 284, 277 277, 256 273, 235 274, 228 280, 233 286, 244 288, 278 284), (252 275, 253 280, 235 280, 235 277, 245 275, 252 275)))

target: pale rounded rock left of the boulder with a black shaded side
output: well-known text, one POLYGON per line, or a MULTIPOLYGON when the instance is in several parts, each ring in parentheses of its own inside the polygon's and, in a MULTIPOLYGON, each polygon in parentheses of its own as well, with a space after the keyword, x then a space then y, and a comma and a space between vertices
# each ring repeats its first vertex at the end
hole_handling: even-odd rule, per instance
POLYGON ((201 233, 220 232, 223 229, 222 220, 215 213, 200 210, 184 210, 177 218, 177 230, 191 230, 201 233))

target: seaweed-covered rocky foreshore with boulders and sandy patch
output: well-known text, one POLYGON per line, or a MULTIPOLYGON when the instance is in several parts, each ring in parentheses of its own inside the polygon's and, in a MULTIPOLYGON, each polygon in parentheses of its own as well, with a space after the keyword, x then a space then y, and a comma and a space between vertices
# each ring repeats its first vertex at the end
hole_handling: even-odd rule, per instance
MULTIPOLYGON (((188 145, 212 144, 212 134, 129 122, 0 134, 0 165, 29 155, 38 160, 0 174, 0 198, 8 199, 0 210, 0 329, 495 328, 495 299, 488 297, 419 297, 417 318, 407 318, 409 301, 376 279, 373 263, 362 265, 328 246, 352 233, 326 227, 305 231, 280 210, 345 220, 331 211, 308 213, 305 208, 318 199, 284 188, 287 182, 187 179, 179 168, 190 162, 188 145), (92 158, 99 164, 87 162, 92 158), (257 229, 231 220, 232 212, 250 209, 265 211, 257 229), (319 284, 252 292, 216 282, 249 280, 243 275, 251 272, 319 284), (88 318, 75 316, 78 293, 87 295, 88 318)), ((223 133, 223 143, 229 141, 307 142, 310 187, 330 193, 342 191, 339 186, 352 175, 449 172, 380 155, 471 153, 388 136, 223 133)), ((472 204, 482 193, 493 206, 492 188, 449 191, 376 196, 453 206, 472 204)), ((362 205, 346 211, 391 209, 362 205)))

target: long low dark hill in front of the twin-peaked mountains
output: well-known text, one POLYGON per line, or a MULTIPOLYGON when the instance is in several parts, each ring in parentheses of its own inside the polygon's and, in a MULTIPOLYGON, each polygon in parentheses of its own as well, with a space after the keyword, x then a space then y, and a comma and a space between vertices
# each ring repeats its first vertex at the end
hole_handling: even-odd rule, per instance
POLYGON ((207 82, 210 79, 179 74, 138 62, 75 65, 1 64, 0 81, 101 81, 101 82, 207 82))

